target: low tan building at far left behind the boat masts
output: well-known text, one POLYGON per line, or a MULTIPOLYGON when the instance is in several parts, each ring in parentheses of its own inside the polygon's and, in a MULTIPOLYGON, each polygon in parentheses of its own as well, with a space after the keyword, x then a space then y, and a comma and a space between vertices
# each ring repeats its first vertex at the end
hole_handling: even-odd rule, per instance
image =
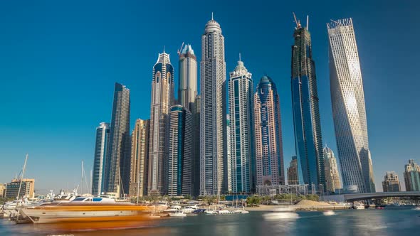
MULTIPOLYGON (((19 186, 21 185, 20 179, 14 178, 11 180, 11 183, 6 184, 6 198, 18 198, 19 186)), ((33 198, 35 195, 34 192, 35 179, 33 178, 23 178, 21 185, 21 192, 19 193, 19 198, 25 196, 26 198, 33 198)))

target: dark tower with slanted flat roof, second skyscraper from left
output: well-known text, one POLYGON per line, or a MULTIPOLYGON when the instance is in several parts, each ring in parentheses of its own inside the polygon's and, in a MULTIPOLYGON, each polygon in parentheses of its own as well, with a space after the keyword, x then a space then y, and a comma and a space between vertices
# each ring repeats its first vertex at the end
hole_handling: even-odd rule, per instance
POLYGON ((130 147, 130 90, 116 82, 105 165, 107 192, 128 193, 130 147))

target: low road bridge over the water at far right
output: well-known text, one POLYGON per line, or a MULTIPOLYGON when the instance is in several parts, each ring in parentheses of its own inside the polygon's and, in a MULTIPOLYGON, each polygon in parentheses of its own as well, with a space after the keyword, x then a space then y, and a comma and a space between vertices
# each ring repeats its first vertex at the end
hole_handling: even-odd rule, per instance
POLYGON ((413 192, 378 192, 378 193, 349 193, 326 195, 325 200, 335 200, 337 202, 354 202, 357 200, 369 200, 380 198, 420 198, 420 191, 413 192))

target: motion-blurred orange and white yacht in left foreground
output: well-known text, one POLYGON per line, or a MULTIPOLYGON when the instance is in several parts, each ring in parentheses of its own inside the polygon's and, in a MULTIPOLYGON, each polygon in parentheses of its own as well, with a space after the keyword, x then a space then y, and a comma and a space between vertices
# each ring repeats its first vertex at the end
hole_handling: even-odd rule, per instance
POLYGON ((54 223, 70 228, 85 224, 92 229, 106 229, 139 226, 138 222, 148 220, 149 210, 146 206, 117 203, 110 198, 78 197, 69 203, 22 208, 20 213, 34 224, 54 223))

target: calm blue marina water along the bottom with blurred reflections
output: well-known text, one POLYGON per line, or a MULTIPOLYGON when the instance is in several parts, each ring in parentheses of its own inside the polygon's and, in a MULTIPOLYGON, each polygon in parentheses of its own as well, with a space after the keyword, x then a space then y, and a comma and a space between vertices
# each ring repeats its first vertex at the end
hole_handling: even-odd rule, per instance
POLYGON ((199 215, 160 220, 156 227, 91 232, 52 232, 46 225, 16 225, 0 219, 0 235, 420 235, 420 210, 341 210, 336 215, 298 212, 299 218, 265 220, 261 212, 199 215))

